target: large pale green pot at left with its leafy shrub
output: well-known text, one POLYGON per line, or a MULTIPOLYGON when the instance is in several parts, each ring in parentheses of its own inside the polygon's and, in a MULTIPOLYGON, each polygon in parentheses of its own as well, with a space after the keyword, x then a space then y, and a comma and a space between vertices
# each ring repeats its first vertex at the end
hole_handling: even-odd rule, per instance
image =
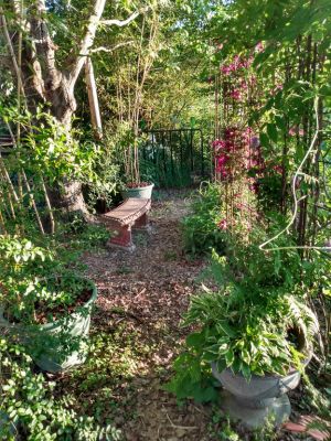
POLYGON ((0 325, 44 370, 83 363, 95 284, 49 249, 13 236, 0 236, 0 325))

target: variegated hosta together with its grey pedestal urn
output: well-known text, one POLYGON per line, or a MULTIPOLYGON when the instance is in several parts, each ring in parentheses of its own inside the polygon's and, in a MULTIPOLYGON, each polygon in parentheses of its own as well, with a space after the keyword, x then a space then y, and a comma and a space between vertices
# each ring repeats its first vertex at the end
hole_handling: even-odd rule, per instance
POLYGON ((316 318, 303 300, 266 290, 267 302, 237 299, 238 287, 193 298, 185 324, 199 323, 188 338, 227 391, 232 417, 258 427, 271 412, 290 413, 286 392, 298 386, 312 353, 316 318))

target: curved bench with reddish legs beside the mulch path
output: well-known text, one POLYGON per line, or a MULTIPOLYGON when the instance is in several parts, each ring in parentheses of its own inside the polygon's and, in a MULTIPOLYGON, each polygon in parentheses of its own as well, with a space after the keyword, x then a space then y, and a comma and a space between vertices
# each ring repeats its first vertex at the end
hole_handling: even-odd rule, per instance
POLYGON ((148 212, 150 211, 151 200, 129 197, 118 207, 102 215, 107 228, 115 230, 116 236, 111 237, 108 245, 132 251, 131 229, 148 230, 148 212))

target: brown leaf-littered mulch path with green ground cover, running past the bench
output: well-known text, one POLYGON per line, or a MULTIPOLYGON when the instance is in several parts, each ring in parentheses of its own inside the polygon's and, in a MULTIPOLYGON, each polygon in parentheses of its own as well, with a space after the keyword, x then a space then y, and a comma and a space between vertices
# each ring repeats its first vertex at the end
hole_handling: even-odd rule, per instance
MULTIPOLYGON (((102 249, 86 256, 98 287, 93 349, 61 387, 76 397, 82 410, 121 429, 128 441, 232 439, 221 434, 215 408, 193 401, 179 407, 162 390, 185 336, 181 316, 199 292, 196 278, 205 266, 182 251, 180 219, 189 202, 183 195, 156 202, 152 233, 135 235, 135 252, 102 249)), ((243 432, 241 439, 247 437, 243 432)))

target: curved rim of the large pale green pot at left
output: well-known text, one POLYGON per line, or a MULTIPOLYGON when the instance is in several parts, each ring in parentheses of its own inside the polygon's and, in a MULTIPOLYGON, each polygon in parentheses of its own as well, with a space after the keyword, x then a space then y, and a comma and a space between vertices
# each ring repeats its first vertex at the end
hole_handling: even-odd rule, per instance
MULTIPOLYGON (((51 278, 51 277, 50 277, 51 278)), ((95 284, 95 282, 90 279, 88 279, 87 277, 81 277, 77 276, 78 279, 81 280, 86 280, 92 288, 92 294, 90 298, 87 300, 87 302, 85 302, 81 309, 88 309, 96 300, 97 298, 97 287, 95 284)), ((81 315, 82 313, 79 311, 74 311, 71 314, 67 315, 67 318, 76 318, 78 315, 81 315)), ((43 323, 43 324, 36 324, 36 323, 30 323, 30 324, 23 324, 23 323, 10 323, 7 319, 3 318, 3 309, 0 305, 0 327, 1 326, 6 326, 7 329, 11 329, 11 330, 24 330, 26 327, 39 327, 40 330, 53 330, 55 327, 57 327, 58 325, 61 325, 63 323, 63 321, 66 319, 65 315, 63 315, 62 318, 54 320, 53 322, 47 322, 47 323, 43 323)))

